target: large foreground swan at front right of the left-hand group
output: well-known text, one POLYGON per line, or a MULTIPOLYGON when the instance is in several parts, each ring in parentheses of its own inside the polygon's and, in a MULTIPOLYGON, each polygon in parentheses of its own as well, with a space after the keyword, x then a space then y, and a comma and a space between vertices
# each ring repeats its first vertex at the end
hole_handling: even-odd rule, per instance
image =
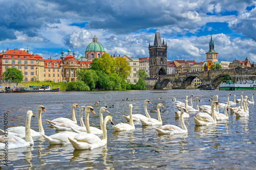
POLYGON ((70 142, 72 143, 75 150, 87 150, 87 149, 95 149, 99 147, 103 147, 107 140, 107 133, 106 133, 106 123, 111 122, 112 125, 112 117, 106 116, 103 122, 103 138, 100 139, 97 135, 91 133, 79 133, 73 139, 68 137, 70 142))

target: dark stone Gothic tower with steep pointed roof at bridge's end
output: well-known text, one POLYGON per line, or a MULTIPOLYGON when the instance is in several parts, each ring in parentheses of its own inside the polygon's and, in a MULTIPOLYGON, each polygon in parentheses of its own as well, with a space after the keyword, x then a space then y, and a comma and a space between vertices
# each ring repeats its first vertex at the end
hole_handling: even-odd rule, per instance
POLYGON ((154 45, 148 45, 150 53, 150 77, 167 74, 167 44, 161 42, 160 32, 156 32, 154 45))

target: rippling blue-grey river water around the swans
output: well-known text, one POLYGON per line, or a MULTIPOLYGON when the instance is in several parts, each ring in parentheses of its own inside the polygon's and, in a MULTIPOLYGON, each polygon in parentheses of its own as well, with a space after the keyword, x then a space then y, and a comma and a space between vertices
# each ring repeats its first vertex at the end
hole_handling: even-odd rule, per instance
MULTIPOLYGON (((90 91, 90 92, 51 92, 51 93, 0 93, 0 128, 4 127, 4 113, 8 113, 8 127, 24 126, 27 110, 33 110, 37 117, 37 107, 44 105, 47 112, 42 113, 42 123, 46 135, 55 129, 47 124, 47 119, 57 117, 72 118, 72 105, 91 105, 96 114, 90 113, 90 126, 99 127, 99 109, 109 108, 114 124, 125 123, 124 115, 129 115, 129 104, 133 104, 133 113, 145 114, 145 99, 151 117, 157 118, 158 103, 161 109, 163 125, 180 126, 175 119, 175 106, 172 98, 185 100, 186 95, 194 94, 201 98, 199 105, 210 105, 209 99, 219 95, 219 102, 227 101, 227 94, 236 94, 240 98, 242 91, 219 90, 130 90, 130 91, 90 91), (122 99, 129 98, 128 101, 122 99), (159 98, 162 98, 161 100, 159 98), (136 99, 136 101, 131 101, 136 99), (94 106, 100 101, 99 106, 94 106)), ((245 91, 251 98, 254 91, 245 91)), ((194 98, 195 99, 195 98, 194 98)), ((230 96, 230 101, 233 96, 230 96)), ((195 108, 195 102, 194 108, 195 108)), ((240 105, 240 104, 239 104, 240 105)), ((108 144, 94 150, 76 151, 72 145, 50 145, 42 137, 35 137, 33 147, 10 150, 8 166, 4 165, 4 152, 0 151, 2 169, 255 169, 256 163, 256 107, 248 104, 250 116, 236 118, 229 114, 229 120, 217 122, 215 126, 195 127, 194 115, 185 119, 188 129, 183 135, 158 135, 154 127, 142 127, 136 123, 136 129, 129 132, 114 132, 107 124, 108 144)), ((223 111, 221 109, 220 111, 223 111)), ((106 112, 103 116, 107 115, 106 112)), ((76 108, 79 122, 79 109, 76 108)), ((37 118, 32 118, 31 128, 38 131, 37 118)), ((100 136, 102 137, 102 136, 100 136)))

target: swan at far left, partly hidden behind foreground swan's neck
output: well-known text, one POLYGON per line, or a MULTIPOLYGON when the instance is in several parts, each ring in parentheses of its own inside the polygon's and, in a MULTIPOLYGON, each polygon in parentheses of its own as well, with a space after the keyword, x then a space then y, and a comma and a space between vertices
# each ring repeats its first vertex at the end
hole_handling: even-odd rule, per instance
MULTIPOLYGON (((42 105, 38 106, 38 108, 37 108, 37 120, 38 120, 39 132, 42 133, 42 134, 45 134, 44 127, 42 127, 42 117, 41 117, 42 110, 47 112, 44 106, 42 106, 42 105)), ((1 131, 1 133, 4 134, 3 130, 0 129, 0 131, 1 131)), ((31 133, 32 137, 41 136, 39 132, 36 132, 33 129, 30 130, 30 133, 31 133)), ((8 128, 8 134, 18 136, 18 137, 21 137, 21 138, 25 138, 26 137, 26 127, 17 126, 17 127, 8 128)))

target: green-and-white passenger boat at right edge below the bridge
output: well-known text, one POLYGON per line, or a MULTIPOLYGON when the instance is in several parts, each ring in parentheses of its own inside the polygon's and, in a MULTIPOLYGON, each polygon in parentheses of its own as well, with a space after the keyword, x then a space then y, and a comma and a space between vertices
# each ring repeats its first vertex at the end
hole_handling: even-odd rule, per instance
POLYGON ((222 79, 220 90, 255 90, 256 82, 252 75, 227 76, 222 79))

